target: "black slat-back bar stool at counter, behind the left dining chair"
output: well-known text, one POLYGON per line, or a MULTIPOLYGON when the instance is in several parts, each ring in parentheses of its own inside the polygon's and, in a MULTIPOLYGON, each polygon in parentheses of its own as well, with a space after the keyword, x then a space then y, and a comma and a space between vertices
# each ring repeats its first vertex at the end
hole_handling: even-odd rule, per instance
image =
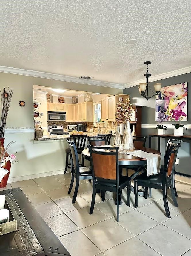
MULTIPOLYGON (((81 154, 85 148, 86 137, 87 137, 87 134, 85 134, 85 135, 70 135, 70 141, 74 141, 74 144, 76 145, 78 154, 81 154)), ((71 163, 68 163, 69 155, 70 155, 70 148, 67 148, 67 150, 66 150, 66 166, 65 166, 64 174, 66 173, 67 168, 71 168, 71 163)), ((83 156, 81 156, 80 166, 84 166, 84 157, 83 156)))

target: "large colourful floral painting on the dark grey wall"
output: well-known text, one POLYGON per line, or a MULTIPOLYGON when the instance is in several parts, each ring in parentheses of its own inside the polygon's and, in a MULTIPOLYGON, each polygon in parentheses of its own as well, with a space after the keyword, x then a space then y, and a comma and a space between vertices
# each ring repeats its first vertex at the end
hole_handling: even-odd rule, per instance
POLYGON ((156 95, 156 121, 162 114, 163 121, 172 121, 170 119, 172 110, 184 111, 186 116, 182 117, 182 121, 187 121, 188 102, 187 102, 188 87, 187 83, 170 85, 161 88, 161 92, 156 95), (159 114, 159 116, 158 116, 159 114))

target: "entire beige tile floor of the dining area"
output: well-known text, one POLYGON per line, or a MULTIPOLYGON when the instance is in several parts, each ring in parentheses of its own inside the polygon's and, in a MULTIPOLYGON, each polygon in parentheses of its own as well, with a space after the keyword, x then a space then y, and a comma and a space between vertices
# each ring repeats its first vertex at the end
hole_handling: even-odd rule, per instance
MULTIPOLYGON (((135 209, 123 190, 119 222, 116 222, 115 194, 108 192, 104 202, 96 195, 94 213, 89 214, 92 184, 83 180, 75 204, 67 194, 71 174, 24 180, 7 184, 6 189, 21 187, 72 256, 191 256, 191 184, 176 181, 178 205, 174 207, 167 191, 171 218, 164 214, 161 191, 152 197, 139 197, 135 209)), ((1 189, 2 190, 2 189, 1 189)))

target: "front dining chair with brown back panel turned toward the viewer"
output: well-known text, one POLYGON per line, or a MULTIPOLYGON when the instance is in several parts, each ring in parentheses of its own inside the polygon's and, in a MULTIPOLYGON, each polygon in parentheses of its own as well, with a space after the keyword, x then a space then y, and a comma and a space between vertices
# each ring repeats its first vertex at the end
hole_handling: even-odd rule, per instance
MULTIPOLYGON (((119 221, 119 198, 122 189, 127 187, 127 205, 130 206, 130 178, 119 175, 118 147, 94 147, 88 145, 93 174, 93 192, 90 214, 93 213, 96 189, 101 192, 111 191, 117 193, 117 221, 119 221)), ((103 192, 102 192, 103 195, 103 192)), ((104 201, 104 198, 102 198, 104 201)))

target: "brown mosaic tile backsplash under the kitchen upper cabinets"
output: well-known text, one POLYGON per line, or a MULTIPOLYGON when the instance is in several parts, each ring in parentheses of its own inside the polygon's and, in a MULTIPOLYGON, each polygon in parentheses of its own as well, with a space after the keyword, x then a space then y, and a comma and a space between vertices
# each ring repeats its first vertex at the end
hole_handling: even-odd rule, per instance
MULTIPOLYGON (((107 127, 100 127, 102 129, 103 133, 108 133, 110 130, 116 131, 116 126, 115 126, 115 124, 113 125, 113 122, 107 122, 107 123, 108 123, 107 127)), ((93 126, 93 122, 56 122, 56 123, 48 122, 48 125, 53 125, 53 124, 63 125, 64 131, 67 131, 67 125, 70 125, 70 124, 71 125, 84 124, 87 127, 87 132, 90 132, 90 129, 92 129, 92 126, 93 126)), ((94 124, 94 126, 96 126, 96 124, 94 124)), ((93 127, 93 130, 94 130, 94 132, 98 132, 98 125, 97 125, 97 128, 93 127)))

